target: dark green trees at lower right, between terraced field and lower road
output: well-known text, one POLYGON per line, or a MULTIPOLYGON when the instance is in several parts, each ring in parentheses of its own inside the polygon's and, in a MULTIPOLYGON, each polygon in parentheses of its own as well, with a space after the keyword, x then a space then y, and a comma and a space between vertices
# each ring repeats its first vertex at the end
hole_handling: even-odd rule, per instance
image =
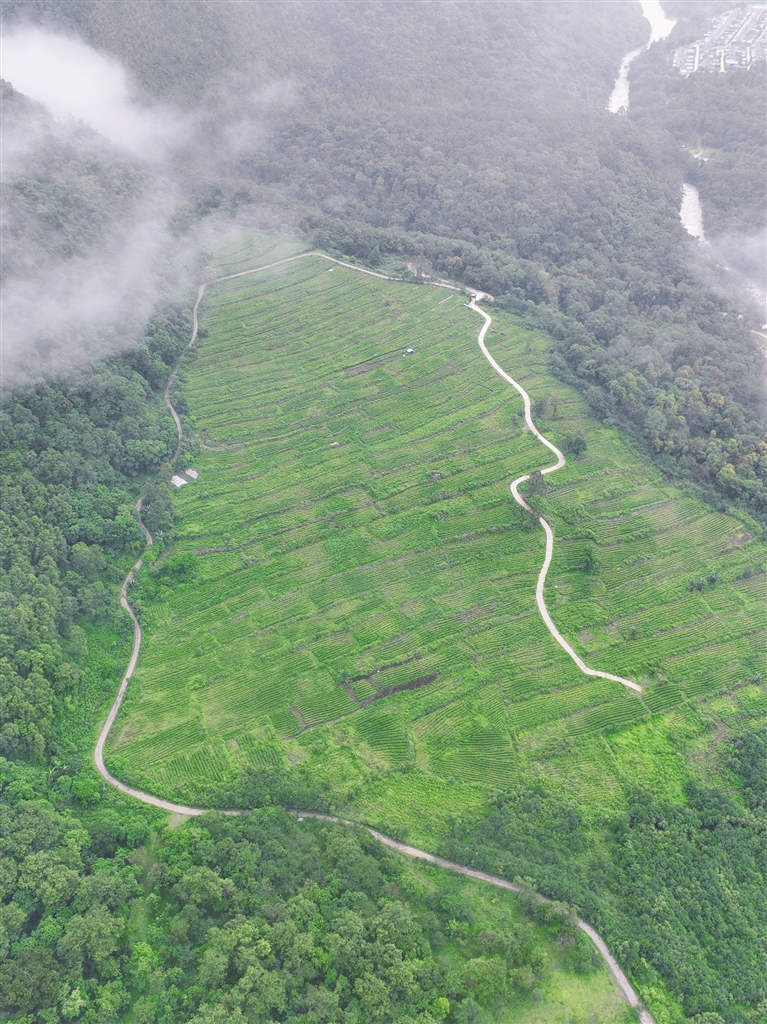
POLYGON ((761 1024, 767 732, 735 736, 724 763, 742 803, 699 782, 687 783, 684 804, 636 790, 598 853, 583 811, 543 787, 499 795, 489 816, 456 828, 442 853, 506 878, 528 876, 579 906, 636 981, 652 987, 664 978, 685 1019, 761 1024))

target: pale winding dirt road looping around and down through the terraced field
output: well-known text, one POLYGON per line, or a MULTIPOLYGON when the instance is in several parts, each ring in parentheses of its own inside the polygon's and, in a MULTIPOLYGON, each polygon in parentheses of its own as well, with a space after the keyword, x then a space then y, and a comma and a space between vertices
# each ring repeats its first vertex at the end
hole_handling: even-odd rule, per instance
MULTIPOLYGON (((247 275, 252 274, 252 273, 259 273, 259 272, 262 272, 264 270, 270 270, 273 267, 282 266, 285 263, 291 263, 294 260, 305 259, 308 256, 314 256, 314 257, 318 257, 321 259, 329 260, 331 263, 338 264, 338 266, 348 267, 348 269, 350 269, 350 270, 356 270, 359 273, 367 273, 370 276, 380 278, 380 279, 382 279, 384 281, 394 281, 394 280, 396 280, 396 279, 393 279, 393 278, 388 278, 386 274, 383 274, 383 273, 377 273, 374 270, 367 270, 364 267, 354 266, 351 263, 344 263, 342 260, 334 259, 331 256, 326 256, 325 253, 306 252, 306 253, 299 253, 297 256, 289 256, 286 259, 275 260, 272 263, 267 263, 264 266, 254 267, 251 270, 241 270, 239 273, 230 273, 230 274, 227 274, 224 278, 218 278, 215 282, 212 282, 212 284, 215 285, 215 284, 219 284, 220 282, 223 282, 223 281, 231 281, 235 278, 244 278, 244 276, 247 276, 247 275)), ((457 291, 457 292, 463 291, 462 289, 457 288, 454 285, 449 285, 449 284, 445 284, 445 283, 432 283, 432 284, 435 284, 437 287, 449 288, 449 289, 451 289, 453 291, 457 291)), ((183 429, 181 427, 181 420, 179 419, 178 413, 173 408, 173 403, 172 403, 172 401, 170 399, 170 392, 171 392, 171 387, 173 385, 173 381, 175 380, 176 374, 178 373, 178 369, 179 369, 179 367, 181 365, 181 360, 183 359, 183 357, 186 354, 186 352, 191 348, 191 346, 197 341, 197 336, 198 336, 198 331, 199 331, 199 323, 200 323, 200 318, 199 318, 200 303, 202 302, 203 296, 205 295, 205 292, 206 292, 206 290, 207 290, 208 287, 209 287, 208 285, 201 285, 200 286, 200 289, 198 291, 197 301, 195 302, 195 307, 194 307, 194 310, 193 310, 191 337, 189 339, 188 344, 184 347, 183 351, 178 356, 178 358, 177 358, 177 360, 176 360, 176 362, 175 362, 175 365, 174 365, 174 367, 173 367, 173 369, 172 369, 172 371, 170 373, 170 376, 168 377, 168 383, 166 384, 166 387, 165 387, 165 395, 164 395, 164 397, 165 397, 165 403, 168 407, 168 409, 170 410, 170 413, 171 413, 171 415, 173 417, 173 420, 174 420, 174 422, 176 424, 177 441, 176 441, 176 451, 175 451, 174 459, 178 458, 178 456, 180 454, 180 451, 181 451, 181 442, 182 442, 182 439, 183 439, 183 429)), ((468 307, 470 309, 473 309, 475 312, 479 313, 481 316, 484 317, 484 325, 483 325, 481 331, 479 332, 479 337, 477 339, 478 343, 479 343, 479 347, 481 348, 482 353, 484 354, 485 358, 491 364, 491 366, 493 367, 493 369, 496 371, 496 373, 498 373, 501 377, 503 377, 503 379, 505 381, 508 381, 509 384, 511 384, 514 388, 516 388, 516 390, 522 396, 522 399, 524 401, 524 418, 525 418, 525 422, 527 424, 527 427, 532 431, 532 433, 536 435, 536 437, 538 437, 538 439, 543 444, 545 444, 546 447, 548 447, 557 457, 557 462, 556 462, 555 465, 549 466, 547 469, 541 470, 541 472, 542 473, 553 473, 555 470, 560 469, 562 466, 565 465, 564 456, 562 455, 562 453, 557 447, 554 446, 554 444, 551 443, 551 441, 549 441, 546 437, 544 437, 544 435, 537 429, 536 425, 534 424, 532 417, 530 415, 530 399, 529 399, 529 395, 527 394, 527 392, 524 390, 523 387, 521 387, 520 384, 518 384, 512 377, 510 377, 506 373, 506 371, 503 370, 498 365, 498 362, 496 362, 496 360, 493 358, 493 356, 491 355, 491 353, 487 351, 487 347, 486 347, 486 345, 484 343, 484 336, 487 333, 487 330, 488 330, 491 324, 493 323, 493 321, 492 321, 492 317, 486 312, 484 312, 483 309, 480 309, 480 307, 476 304, 476 301, 477 301, 476 296, 472 294, 471 295, 471 301, 469 303, 467 303, 467 305, 468 305, 468 307)), ((518 490, 519 484, 523 483, 527 479, 529 479, 529 474, 526 474, 524 476, 520 476, 518 479, 514 480, 513 483, 511 484, 511 493, 512 493, 512 495, 514 497, 514 500, 519 505, 521 505, 522 508, 527 509, 528 511, 531 511, 530 508, 529 508, 529 506, 524 501, 524 499, 521 497, 521 495, 519 494, 519 490, 518 490)), ((148 529, 146 528, 146 526, 144 525, 144 523, 141 520, 141 499, 140 498, 136 502, 136 512, 138 513, 138 521, 139 521, 140 526, 141 526, 141 529, 143 530, 143 535, 144 535, 144 537, 146 539, 146 547, 150 547, 153 544, 153 538, 152 538, 152 535, 150 534, 148 529)), ((546 531, 546 557, 544 559, 544 564, 543 564, 543 567, 542 567, 541 572, 540 572, 539 578, 538 578, 538 586, 536 588, 536 601, 538 603, 538 608, 539 608, 539 610, 541 612, 541 615, 542 615, 544 622, 546 623, 546 626, 547 626, 549 632, 554 637, 554 639, 557 641, 557 643, 569 654, 569 656, 573 659, 573 662, 579 667, 579 669, 581 669, 581 671, 583 673, 585 673, 586 675, 588 675, 588 676, 600 676, 603 679, 610 679, 610 680, 613 680, 614 682, 623 683, 623 685, 629 686, 632 689, 641 690, 641 686, 638 686, 636 683, 633 683, 633 682, 631 682, 628 679, 622 679, 620 676, 612 676, 612 675, 609 675, 608 673, 598 672, 595 669, 590 669, 579 657, 579 655, 572 650, 572 648, 570 647, 570 645, 567 643, 567 641, 564 639, 564 637, 562 637, 562 635, 559 633, 559 631, 557 630, 556 626, 552 622, 551 615, 549 614, 549 611, 548 611, 548 609, 546 607, 546 604, 544 602, 544 584, 546 582, 546 574, 549 571, 549 565, 551 564, 551 558, 552 558, 552 554, 553 554, 553 550, 554 550, 554 534, 553 534, 553 531, 551 529, 551 526, 548 524, 548 522, 546 522, 546 520, 542 516, 539 516, 538 519, 539 519, 539 522, 541 523, 541 525, 544 527, 544 530, 546 531)), ((150 804, 153 807, 158 807, 161 810, 168 811, 171 814, 178 814, 178 815, 182 815, 184 817, 199 817, 201 814, 207 813, 207 809, 200 808, 200 807, 184 807, 181 804, 174 804, 174 803, 172 803, 169 800, 162 800, 159 797, 154 797, 154 796, 152 796, 152 794, 142 793, 140 790, 134 790, 132 786, 126 785, 124 782, 121 782, 120 779, 115 778, 115 776, 112 775, 110 771, 108 771, 106 766, 104 765, 104 762, 103 762, 103 748, 104 748, 104 743, 106 742, 106 738, 108 738, 108 736, 110 734, 112 726, 114 725, 115 719, 117 718, 117 715, 118 715, 118 713, 120 711, 120 707, 121 707, 121 705, 123 702, 123 698, 125 696, 125 692, 126 692, 126 690, 128 688, 128 683, 129 683, 129 681, 131 679, 131 676, 133 675, 133 672, 134 672, 135 668, 136 668, 136 663, 138 660, 138 654, 139 654, 139 651, 140 651, 140 648, 141 648, 141 626, 140 626, 140 624, 138 622, 138 618, 136 617, 135 612, 133 611, 133 609, 131 608, 130 604, 128 603, 128 589, 129 589, 130 585, 133 583, 134 579, 136 578, 136 574, 137 574, 138 570, 141 568, 142 562, 143 562, 143 557, 139 558, 138 561, 136 561, 135 564, 131 567, 131 569, 128 572, 127 577, 123 581, 123 586, 122 586, 122 589, 120 591, 120 604, 122 605, 123 608, 125 608, 125 610, 128 612, 128 614, 130 615, 131 620, 133 622, 133 649, 131 651, 131 656, 130 656, 130 662, 128 663, 128 668, 126 669, 125 675, 123 676, 122 682, 120 683, 120 688, 119 688, 119 690, 117 692, 117 696, 115 697, 115 700, 114 700, 114 702, 112 705, 112 708, 110 709, 110 713, 106 716, 106 721, 103 724, 103 728, 101 729, 101 732, 99 733, 98 740, 96 742, 95 750, 93 752, 93 759, 95 761, 96 768, 98 769, 98 772, 101 775, 101 777, 106 782, 109 782, 110 785, 114 785, 115 788, 119 790, 121 793, 125 793, 125 794, 127 794, 127 796, 133 797, 136 800, 139 800, 139 801, 141 801, 144 804, 150 804)), ((241 815, 244 815, 244 814, 249 814, 250 812, 249 811, 243 811, 243 810, 223 810, 223 811, 218 811, 218 813, 220 813, 220 814, 229 814, 229 815, 232 815, 232 816, 241 816, 241 815)), ((387 846, 387 847, 389 847, 392 850, 396 850, 398 853, 402 853, 402 854, 404 854, 408 857, 414 857, 414 858, 416 858, 418 860, 428 861, 431 864, 436 864, 438 867, 443 867, 443 868, 446 868, 448 870, 451 870, 451 871, 457 871, 459 874, 466 876, 466 878, 476 879, 476 880, 478 880, 480 882, 486 882, 488 885, 497 886, 499 889, 507 889, 507 890, 510 890, 511 892, 521 892, 521 889, 520 889, 519 886, 514 885, 512 882, 508 882, 506 879, 498 878, 495 874, 487 874, 484 871, 475 870, 474 868, 467 867, 464 864, 456 864, 456 863, 454 863, 451 860, 443 860, 441 857, 435 857, 433 854, 427 853, 425 850, 419 850, 416 847, 407 846, 404 843, 400 843, 398 840, 392 839, 389 836, 384 836, 382 833, 377 831, 375 828, 370 828, 367 825, 360 824, 359 822, 349 821, 346 818, 339 818, 339 817, 336 817, 336 816, 334 816, 332 814, 319 814, 319 813, 317 813, 315 811, 292 811, 291 813, 295 814, 298 817, 299 821, 302 820, 303 818, 319 818, 322 820, 333 821, 333 822, 336 822, 338 824, 344 824, 344 825, 350 825, 352 827, 365 828, 366 831, 370 833, 371 836, 373 836, 375 839, 377 839, 384 846, 387 846)), ((549 899, 547 899, 546 896, 541 896, 540 899, 544 903, 551 902, 549 899)), ((645 1010, 644 1007, 641 1005, 639 996, 635 992, 635 990, 634 990, 631 982, 629 981, 629 979, 626 977, 626 975, 624 974, 624 972, 621 970, 621 967, 619 966, 617 962, 615 961, 615 958, 610 953, 610 951, 607 948, 607 945, 605 944, 604 940, 597 934, 597 932, 594 931, 594 929, 590 925, 588 925, 581 918, 577 918, 577 923, 578 923, 578 927, 581 929, 581 931, 585 932, 585 934, 589 936, 589 938, 591 939, 591 941, 594 943, 594 945, 598 949, 600 955, 602 956, 602 959, 605 963, 605 966, 607 967, 607 970, 609 971, 610 975, 612 976, 613 981, 615 982, 615 985, 616 985, 617 990, 619 990, 619 992, 621 994, 621 997, 626 1002, 628 1002, 628 1005, 630 1007, 633 1007, 633 1008, 635 1008, 637 1010, 637 1012, 639 1014, 640 1024, 654 1024, 654 1021, 653 1021, 652 1017, 647 1012, 647 1010, 645 1010)))

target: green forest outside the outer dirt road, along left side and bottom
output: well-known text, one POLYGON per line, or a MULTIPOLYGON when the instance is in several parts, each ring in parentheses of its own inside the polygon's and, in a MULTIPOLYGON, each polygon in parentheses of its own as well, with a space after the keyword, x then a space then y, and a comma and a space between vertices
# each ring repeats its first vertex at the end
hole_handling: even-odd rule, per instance
MULTIPOLYGON (((567 913, 541 921, 274 810, 168 830, 96 775, 94 726, 130 644, 116 591, 142 545, 140 483, 153 553, 173 537, 154 471, 175 443, 161 396, 188 330, 159 316, 137 352, 4 396, 0 1020, 625 1020, 567 913)), ((198 563, 168 551, 153 585, 194 586, 198 563)))

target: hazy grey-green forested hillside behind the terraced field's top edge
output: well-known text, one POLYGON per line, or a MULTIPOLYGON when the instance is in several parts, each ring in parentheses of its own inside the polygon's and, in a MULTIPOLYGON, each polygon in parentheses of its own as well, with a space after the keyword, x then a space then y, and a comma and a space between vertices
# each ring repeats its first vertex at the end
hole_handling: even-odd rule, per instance
POLYGON ((272 205, 341 254, 403 258, 526 310, 557 338, 561 372, 665 472, 767 515, 764 353, 748 310, 739 319, 699 282, 667 123, 708 112, 730 171, 689 177, 720 230, 755 223, 767 205, 758 75, 685 82, 656 47, 636 116, 608 115, 614 69, 646 37, 635 3, 609 18, 579 3, 535 15, 474 4, 471 16, 451 3, 4 7, 77 27, 147 93, 199 105, 208 157, 189 166, 184 150, 175 168, 187 217, 272 205), (680 97, 668 109, 667 93, 680 97))

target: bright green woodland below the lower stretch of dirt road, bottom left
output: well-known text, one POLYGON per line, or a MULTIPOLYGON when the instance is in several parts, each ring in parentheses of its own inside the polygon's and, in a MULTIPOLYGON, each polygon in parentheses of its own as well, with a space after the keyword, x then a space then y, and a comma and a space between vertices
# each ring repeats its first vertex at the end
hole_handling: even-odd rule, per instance
POLYGON ((630 1019, 565 907, 275 809, 150 830, 98 788, 0 760, 2 1020, 630 1019))

